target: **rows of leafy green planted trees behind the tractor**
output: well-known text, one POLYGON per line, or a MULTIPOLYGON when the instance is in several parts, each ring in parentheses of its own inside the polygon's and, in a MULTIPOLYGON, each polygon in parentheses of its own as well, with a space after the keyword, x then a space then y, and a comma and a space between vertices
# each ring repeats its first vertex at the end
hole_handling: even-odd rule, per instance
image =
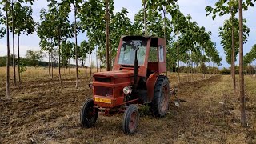
MULTIPOLYGON (((178 82, 180 82, 180 65, 182 64, 190 67, 191 76, 193 76, 194 67, 197 72, 200 69, 202 72, 202 67, 206 67, 207 63, 208 65, 212 63, 212 67, 220 66, 222 59, 218 55, 214 42, 211 41, 211 32, 206 31, 202 26, 198 26, 197 22, 193 22, 190 15, 182 14, 177 1, 143 0, 142 10, 135 14, 134 22, 131 22, 130 18, 127 17, 128 11, 125 8, 114 13, 113 0, 47 0, 48 8, 41 10, 40 22, 36 23, 31 16, 31 7, 22 6, 23 2, 30 2, 32 5, 34 0, 17 0, 15 2, 2 0, 3 11, 6 14, 0 14, 0 22, 6 24, 6 29, 0 29, 0 36, 3 37, 7 34, 6 95, 9 96, 9 31, 13 32, 13 41, 14 34, 18 35, 19 43, 19 36, 22 32, 32 34, 34 30, 37 30, 38 37, 41 40, 40 46, 49 55, 48 61, 53 58, 54 49, 58 49, 60 83, 62 83, 61 63, 65 65, 70 62, 70 59, 74 59, 76 62, 76 88, 78 88, 78 60, 83 62, 89 57, 87 59, 90 61, 91 54, 95 50, 96 59, 100 61, 102 66, 106 66, 106 70, 110 70, 114 63, 121 35, 145 34, 165 38, 168 70, 172 66, 175 67, 175 70, 177 67, 178 82), (71 13, 74 15, 74 22, 70 22, 71 13), (84 40, 78 45, 77 35, 81 32, 85 34, 84 38, 88 40, 84 40), (72 38, 74 40, 71 40, 72 38)), ((241 46, 243 42, 246 42, 250 31, 246 26, 246 21, 238 22, 235 14, 238 12, 238 6, 241 10, 242 8, 246 10, 248 6, 254 5, 251 0, 244 3, 240 1, 239 5, 236 0, 224 0, 216 2, 215 6, 214 8, 206 7, 207 15, 213 14, 213 19, 216 14, 220 16, 224 14, 231 15, 230 19, 224 22, 224 26, 219 29, 219 35, 222 38, 221 44, 226 53, 226 61, 231 63, 235 91, 234 62, 239 51, 238 47, 242 49, 241 46), (242 43, 241 39, 243 39, 242 43), (240 41, 238 42, 238 40, 240 41)), ((240 50, 241 70, 243 67, 242 51, 240 50)), ((15 57, 15 54, 13 55, 15 57)), ((248 56, 246 55, 246 63, 253 62, 254 56, 252 50, 248 56)), ((98 60, 95 60, 95 62, 98 62, 98 60)), ((15 65, 14 86, 16 86, 15 65)))

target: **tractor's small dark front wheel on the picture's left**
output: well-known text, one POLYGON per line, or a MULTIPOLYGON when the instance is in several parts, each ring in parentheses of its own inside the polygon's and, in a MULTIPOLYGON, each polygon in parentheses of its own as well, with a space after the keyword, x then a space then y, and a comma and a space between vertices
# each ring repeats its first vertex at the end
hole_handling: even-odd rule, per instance
POLYGON ((87 99, 82 105, 80 112, 80 121, 82 127, 90 128, 94 126, 98 118, 98 109, 94 108, 94 101, 92 99, 87 99))

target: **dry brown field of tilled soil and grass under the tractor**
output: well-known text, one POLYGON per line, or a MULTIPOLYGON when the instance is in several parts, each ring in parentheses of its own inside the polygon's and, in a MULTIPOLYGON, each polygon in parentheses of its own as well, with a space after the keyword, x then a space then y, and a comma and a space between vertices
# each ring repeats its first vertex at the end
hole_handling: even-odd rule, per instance
POLYGON ((62 70, 60 86, 57 69, 50 81, 44 69, 29 68, 21 85, 14 88, 10 81, 12 99, 6 100, 5 69, 0 68, 0 143, 256 143, 254 77, 245 79, 247 128, 240 126, 238 96, 229 75, 209 74, 198 82, 186 82, 186 74, 181 74, 182 84, 177 84, 177 74, 169 74, 181 105, 174 106, 172 98, 168 114, 160 119, 140 106, 138 130, 126 135, 121 130, 122 114, 100 115, 94 128, 82 129, 79 112, 91 90, 85 70, 79 71, 80 86, 75 89, 73 69, 70 74, 62 70))

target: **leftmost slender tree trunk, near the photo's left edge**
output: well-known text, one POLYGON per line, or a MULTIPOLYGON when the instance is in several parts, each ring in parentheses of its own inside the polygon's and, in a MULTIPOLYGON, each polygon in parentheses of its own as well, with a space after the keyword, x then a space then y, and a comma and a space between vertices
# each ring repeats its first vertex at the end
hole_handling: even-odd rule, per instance
POLYGON ((7 0, 6 4, 6 33, 7 33, 7 58, 6 58, 6 98, 10 99, 10 41, 9 41, 9 20, 8 20, 8 8, 7 0))

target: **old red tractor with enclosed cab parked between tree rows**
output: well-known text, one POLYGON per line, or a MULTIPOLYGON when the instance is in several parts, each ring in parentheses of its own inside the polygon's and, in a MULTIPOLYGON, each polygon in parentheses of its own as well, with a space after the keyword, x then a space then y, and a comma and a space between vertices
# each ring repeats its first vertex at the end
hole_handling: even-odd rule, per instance
POLYGON ((120 39, 113 71, 95 73, 89 85, 93 98, 82 106, 83 127, 94 126, 98 112, 124 112, 122 130, 132 134, 138 126, 138 104, 148 104, 156 117, 166 115, 170 86, 166 76, 166 46, 162 38, 124 36, 120 39))

